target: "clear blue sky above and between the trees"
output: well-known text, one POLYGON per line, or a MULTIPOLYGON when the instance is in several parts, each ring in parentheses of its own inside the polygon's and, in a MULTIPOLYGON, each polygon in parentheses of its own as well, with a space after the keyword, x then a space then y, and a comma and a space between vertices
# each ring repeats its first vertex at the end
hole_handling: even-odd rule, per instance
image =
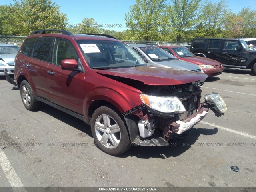
MULTIPOLYGON (((211 0, 219 2, 220 0, 211 0)), ((52 0, 54 2, 54 0, 52 0)), ((55 0, 60 6, 60 11, 67 15, 69 24, 76 25, 83 18, 94 18, 103 28, 109 30, 122 31, 127 29, 125 26, 125 14, 130 5, 135 4, 135 0, 55 0), (117 24, 116 28, 105 27, 105 25, 117 24)), ((170 3, 170 0, 166 1, 170 3)), ((0 5, 14 4, 13 0, 0 0, 0 5)), ((238 13, 243 7, 256 10, 256 0, 227 0, 228 8, 232 12, 238 13)))

